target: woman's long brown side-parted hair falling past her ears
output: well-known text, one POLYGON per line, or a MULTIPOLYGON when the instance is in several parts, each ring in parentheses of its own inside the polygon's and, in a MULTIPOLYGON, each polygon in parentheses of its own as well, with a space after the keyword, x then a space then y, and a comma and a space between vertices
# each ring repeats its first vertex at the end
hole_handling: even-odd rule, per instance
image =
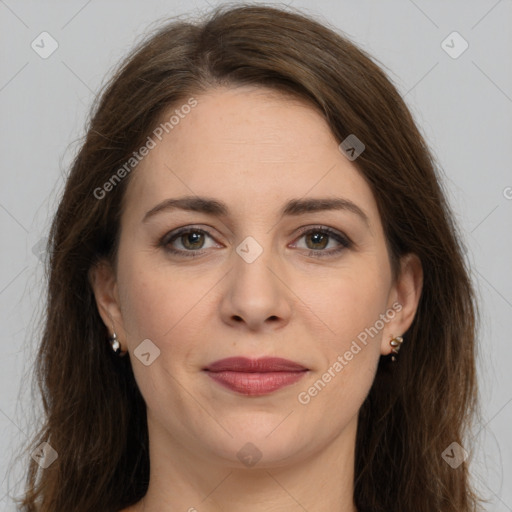
POLYGON ((399 361, 382 358, 359 414, 354 502, 361 512, 468 512, 479 500, 464 446, 477 405, 476 305, 435 161, 381 68, 347 38, 296 10, 221 6, 207 19, 171 20, 139 45, 105 86, 74 160, 48 243, 48 296, 36 382, 45 413, 29 449, 26 512, 117 512, 149 479, 144 400, 129 358, 113 355, 89 273, 114 259, 131 173, 107 183, 171 106, 219 85, 298 94, 341 142, 356 134, 354 162, 375 195, 392 263, 415 253, 424 283, 399 361), (101 196, 98 198, 98 196, 101 196))

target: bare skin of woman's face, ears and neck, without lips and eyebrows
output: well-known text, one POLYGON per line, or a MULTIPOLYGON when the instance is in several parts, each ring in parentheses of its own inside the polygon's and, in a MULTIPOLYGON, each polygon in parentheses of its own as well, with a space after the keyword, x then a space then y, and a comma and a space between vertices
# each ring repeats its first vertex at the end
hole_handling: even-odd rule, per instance
POLYGON ((149 489, 124 512, 354 512, 358 411, 380 356, 414 318, 421 264, 407 255, 393 281, 372 191, 309 105, 246 86, 195 97, 197 106, 133 171, 115 269, 105 262, 93 272, 100 314, 128 350, 147 404, 149 489), (185 195, 222 201, 229 214, 174 209, 143 221, 162 201, 185 195), (348 210, 280 217, 286 201, 320 197, 352 201, 368 222, 348 210), (190 225, 211 236, 177 237, 172 246, 196 249, 196 258, 158 245, 190 225), (318 229, 299 232, 318 225, 353 245, 319 241, 318 229), (263 249, 252 263, 236 252, 248 236, 263 249), (298 394, 396 302, 400 312, 300 403, 298 394), (134 355, 145 339, 160 350, 149 366, 134 355), (283 357, 309 372, 248 397, 202 371, 240 355, 283 357), (248 442, 261 453, 252 467, 237 457, 248 442))

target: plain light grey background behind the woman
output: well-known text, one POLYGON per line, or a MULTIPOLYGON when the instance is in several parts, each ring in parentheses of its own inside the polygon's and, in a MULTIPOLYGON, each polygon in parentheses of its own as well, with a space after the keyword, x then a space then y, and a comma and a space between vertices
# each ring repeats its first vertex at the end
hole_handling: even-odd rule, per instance
MULTIPOLYGON (((512 511, 512 1, 292 5, 343 31, 385 66, 443 169, 481 301, 482 418, 472 471, 488 510, 512 511), (453 31, 469 44, 456 59, 441 47, 453 31)), ((208 8, 201 0, 0 0, 1 510, 14 510, 6 493, 18 492, 23 473, 19 463, 11 469, 13 457, 39 421, 27 386, 44 307, 38 242, 94 95, 155 22, 208 8), (31 48, 43 31, 59 45, 47 59, 31 48)))

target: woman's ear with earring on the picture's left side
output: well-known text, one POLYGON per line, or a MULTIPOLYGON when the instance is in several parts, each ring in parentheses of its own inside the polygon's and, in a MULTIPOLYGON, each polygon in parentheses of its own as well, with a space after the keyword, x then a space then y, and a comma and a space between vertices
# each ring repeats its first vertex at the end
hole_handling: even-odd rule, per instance
POLYGON ((89 282, 94 292, 96 306, 110 335, 115 330, 122 348, 126 348, 123 316, 119 303, 117 280, 112 265, 107 260, 96 263, 89 271, 89 282), (123 345, 125 345, 123 347, 123 345))

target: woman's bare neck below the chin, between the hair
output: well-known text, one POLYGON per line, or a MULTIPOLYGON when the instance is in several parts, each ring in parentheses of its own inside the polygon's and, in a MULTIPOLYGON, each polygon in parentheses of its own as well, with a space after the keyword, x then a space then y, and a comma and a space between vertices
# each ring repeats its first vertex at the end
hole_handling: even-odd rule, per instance
MULTIPOLYGON (((133 512, 357 512, 353 503, 357 418, 321 450, 243 467, 175 443, 148 416, 150 482, 133 512)), ((261 452, 265 447, 261 446, 261 452)), ((251 455, 256 450, 248 446, 251 455)), ((236 451, 236 450, 235 450, 236 451)))

